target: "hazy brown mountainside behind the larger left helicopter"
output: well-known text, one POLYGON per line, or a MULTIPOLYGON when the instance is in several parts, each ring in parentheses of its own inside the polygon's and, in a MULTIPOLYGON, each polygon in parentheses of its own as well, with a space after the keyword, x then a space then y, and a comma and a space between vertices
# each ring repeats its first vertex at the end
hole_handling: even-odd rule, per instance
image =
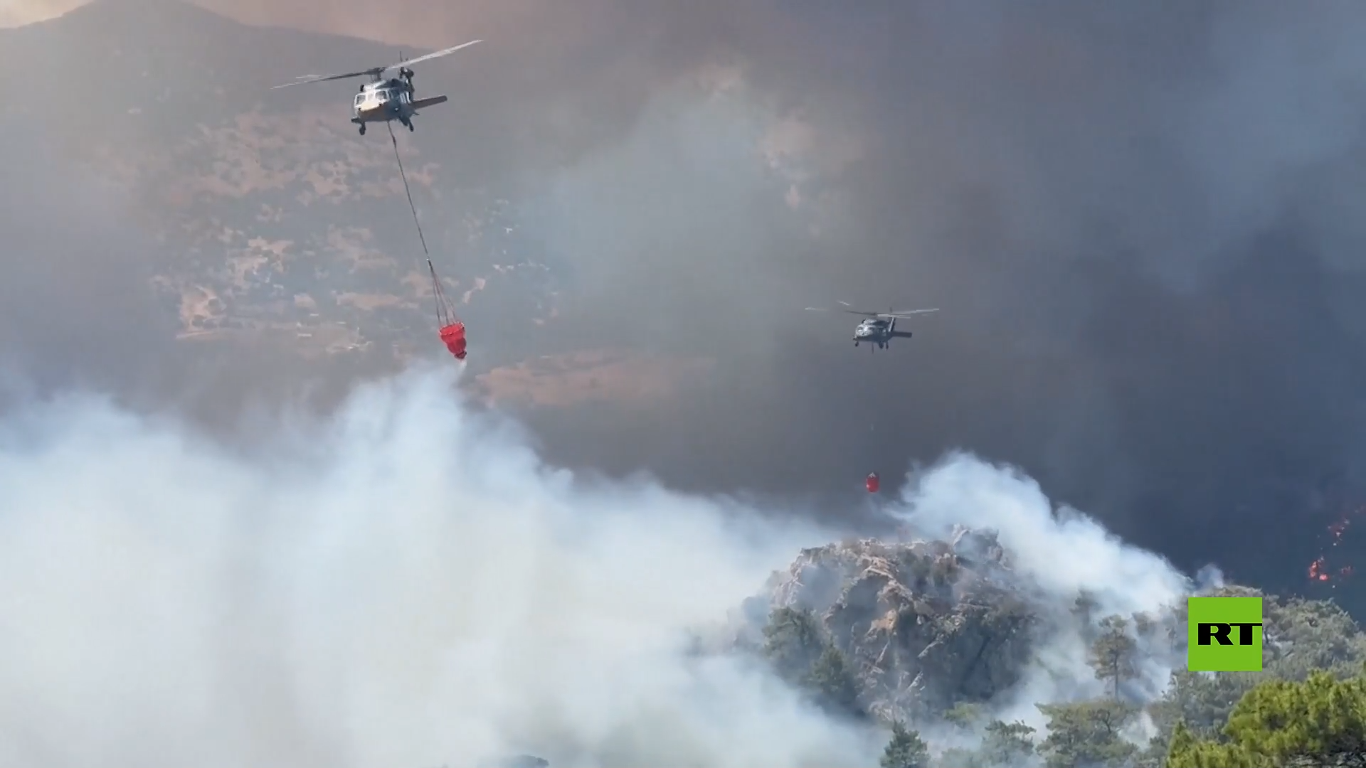
MULTIPOLYGON (((301 351, 380 347, 402 357, 433 320, 388 137, 362 139, 347 122, 354 82, 270 90, 299 74, 398 56, 175 0, 100 0, 0 30, 5 71, 41 61, 41 79, 0 85, 0 123, 37 127, 63 156, 122 184, 130 215, 164 245, 135 266, 156 275, 183 338, 266 332, 301 351)), ((488 344, 500 332, 527 333, 553 306, 548 269, 519 251, 512 205, 466 163, 490 157, 486 145, 462 150, 467 64, 419 75, 419 87, 440 86, 455 104, 419 120, 399 146, 449 295, 478 314, 489 292, 500 316, 520 318, 481 329, 477 343, 488 344)), ((0 160, 15 152, 26 148, 7 142, 0 160)))

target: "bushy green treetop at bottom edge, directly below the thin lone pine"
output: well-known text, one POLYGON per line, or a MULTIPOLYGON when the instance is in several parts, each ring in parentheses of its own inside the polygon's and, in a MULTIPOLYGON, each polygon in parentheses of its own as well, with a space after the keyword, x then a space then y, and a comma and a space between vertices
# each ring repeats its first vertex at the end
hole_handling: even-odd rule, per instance
POLYGON ((1048 768, 1117 768, 1138 748, 1120 737, 1137 708, 1102 698, 1078 704, 1038 704, 1048 717, 1048 738, 1040 745, 1048 768))

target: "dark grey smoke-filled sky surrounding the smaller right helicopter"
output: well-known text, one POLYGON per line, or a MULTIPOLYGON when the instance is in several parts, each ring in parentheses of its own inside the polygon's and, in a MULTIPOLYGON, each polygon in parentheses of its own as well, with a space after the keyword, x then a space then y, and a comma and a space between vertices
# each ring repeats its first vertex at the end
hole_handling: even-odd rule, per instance
MULTIPOLYGON (((515 194, 566 275, 526 353, 721 361, 672 406, 535 415, 557 458, 828 496, 964 447, 1183 567, 1295 586, 1366 499, 1356 3, 212 7, 489 41, 419 72, 460 90, 414 141, 515 194), (800 310, 837 299, 943 312, 869 354, 800 310)), ((309 71, 272 56, 240 77, 309 71)))

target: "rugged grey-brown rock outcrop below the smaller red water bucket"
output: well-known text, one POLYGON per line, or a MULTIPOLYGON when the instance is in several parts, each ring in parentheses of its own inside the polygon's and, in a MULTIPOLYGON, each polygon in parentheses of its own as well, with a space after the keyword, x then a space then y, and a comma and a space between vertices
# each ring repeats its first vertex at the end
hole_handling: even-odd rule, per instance
POLYGON ((874 713, 943 712, 990 700, 1031 659, 1035 614, 1007 586, 1008 571, 992 532, 844 541, 802 551, 746 614, 809 609, 855 667, 874 713))

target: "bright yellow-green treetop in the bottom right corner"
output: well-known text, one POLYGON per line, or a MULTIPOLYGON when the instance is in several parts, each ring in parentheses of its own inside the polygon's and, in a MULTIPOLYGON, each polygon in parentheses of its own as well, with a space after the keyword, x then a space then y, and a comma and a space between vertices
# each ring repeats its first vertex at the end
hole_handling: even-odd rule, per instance
POLYGON ((1264 682, 1233 708, 1224 737, 1198 739, 1179 726, 1168 768, 1264 768, 1366 752, 1366 678, 1317 671, 1303 682, 1264 682))

